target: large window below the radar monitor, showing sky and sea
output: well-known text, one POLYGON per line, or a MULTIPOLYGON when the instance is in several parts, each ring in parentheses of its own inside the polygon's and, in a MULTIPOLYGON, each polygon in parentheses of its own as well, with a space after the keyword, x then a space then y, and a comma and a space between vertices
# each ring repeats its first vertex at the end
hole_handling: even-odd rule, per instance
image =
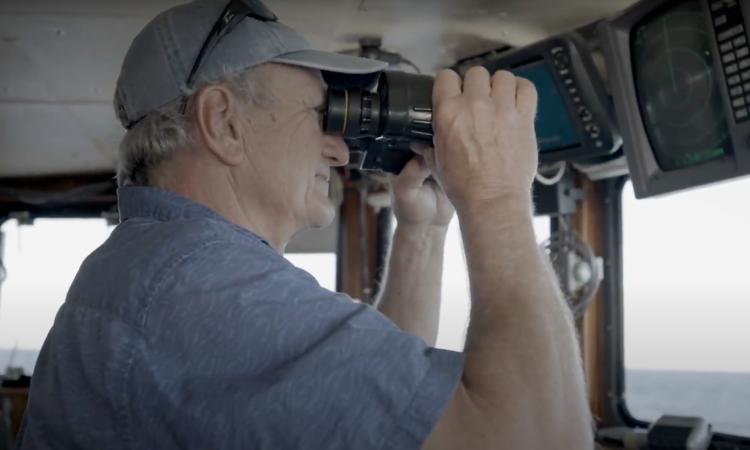
POLYGON ((625 398, 633 417, 750 435, 750 179, 623 191, 625 398))

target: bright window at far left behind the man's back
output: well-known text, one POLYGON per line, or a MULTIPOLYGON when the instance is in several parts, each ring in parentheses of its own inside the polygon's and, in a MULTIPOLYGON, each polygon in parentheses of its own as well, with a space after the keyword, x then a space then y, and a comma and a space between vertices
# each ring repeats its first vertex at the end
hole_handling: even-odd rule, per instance
POLYGON ((37 219, 2 225, 7 278, 0 286, 0 370, 31 374, 84 258, 113 227, 104 219, 37 219))

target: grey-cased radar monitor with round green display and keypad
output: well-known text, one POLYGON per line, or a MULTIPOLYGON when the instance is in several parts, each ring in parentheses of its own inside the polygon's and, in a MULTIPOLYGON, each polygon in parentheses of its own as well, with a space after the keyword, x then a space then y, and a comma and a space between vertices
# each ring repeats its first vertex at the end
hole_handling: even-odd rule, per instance
POLYGON ((599 32, 637 197, 750 172, 739 2, 644 0, 599 32))

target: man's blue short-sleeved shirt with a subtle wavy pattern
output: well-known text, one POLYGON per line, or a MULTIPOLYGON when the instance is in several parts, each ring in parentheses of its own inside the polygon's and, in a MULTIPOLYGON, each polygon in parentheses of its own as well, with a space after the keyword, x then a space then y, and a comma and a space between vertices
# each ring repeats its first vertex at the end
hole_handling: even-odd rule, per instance
POLYGON ((21 449, 416 449, 461 353, 175 194, 118 192, 32 379, 21 449))

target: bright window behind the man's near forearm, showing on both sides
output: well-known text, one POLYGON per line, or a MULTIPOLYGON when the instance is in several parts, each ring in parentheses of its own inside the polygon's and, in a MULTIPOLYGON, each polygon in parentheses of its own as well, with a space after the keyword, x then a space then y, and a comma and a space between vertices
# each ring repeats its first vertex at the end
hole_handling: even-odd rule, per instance
MULTIPOLYGON (((550 236, 549 217, 534 218, 537 242, 550 236)), ((469 325, 469 276, 458 218, 448 228, 443 265, 443 293, 437 347, 463 351, 469 325)))

